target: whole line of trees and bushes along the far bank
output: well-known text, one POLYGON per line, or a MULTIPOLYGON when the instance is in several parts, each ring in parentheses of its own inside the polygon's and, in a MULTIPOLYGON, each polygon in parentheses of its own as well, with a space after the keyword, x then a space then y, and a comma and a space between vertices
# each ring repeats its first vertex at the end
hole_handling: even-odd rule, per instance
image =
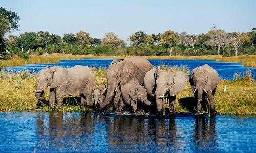
POLYGON ((24 32, 19 36, 4 35, 18 30, 19 16, 0 7, 0 58, 29 54, 115 54, 115 55, 235 55, 255 54, 255 28, 251 32, 231 32, 216 27, 199 35, 166 30, 158 34, 138 31, 130 35, 127 44, 114 32, 105 33, 103 39, 93 38, 86 31, 68 33, 63 37, 47 31, 24 32))

